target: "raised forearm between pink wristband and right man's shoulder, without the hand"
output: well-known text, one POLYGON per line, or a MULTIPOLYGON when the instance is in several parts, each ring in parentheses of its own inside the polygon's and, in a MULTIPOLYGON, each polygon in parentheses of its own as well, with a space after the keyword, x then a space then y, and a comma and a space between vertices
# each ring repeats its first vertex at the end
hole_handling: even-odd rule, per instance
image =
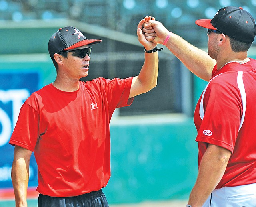
POLYGON ((194 47, 180 36, 172 33, 166 47, 195 75, 209 81, 216 61, 205 51, 194 47))

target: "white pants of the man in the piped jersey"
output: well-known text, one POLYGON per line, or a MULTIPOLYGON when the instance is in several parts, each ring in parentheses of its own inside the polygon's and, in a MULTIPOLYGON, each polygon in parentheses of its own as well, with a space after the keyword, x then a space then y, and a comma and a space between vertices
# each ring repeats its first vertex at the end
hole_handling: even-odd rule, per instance
POLYGON ((216 189, 202 207, 256 207, 256 183, 216 189))

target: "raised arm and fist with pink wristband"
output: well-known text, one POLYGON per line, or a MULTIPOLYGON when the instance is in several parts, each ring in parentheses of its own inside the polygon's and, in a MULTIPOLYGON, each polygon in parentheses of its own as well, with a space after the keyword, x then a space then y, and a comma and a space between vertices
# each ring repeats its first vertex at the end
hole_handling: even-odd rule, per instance
POLYGON ((165 44, 166 47, 195 75, 209 81, 216 61, 205 51, 191 45, 182 37, 171 33, 161 22, 149 20, 144 24, 146 39, 154 43, 165 44), (169 35, 169 39, 166 38, 169 35))

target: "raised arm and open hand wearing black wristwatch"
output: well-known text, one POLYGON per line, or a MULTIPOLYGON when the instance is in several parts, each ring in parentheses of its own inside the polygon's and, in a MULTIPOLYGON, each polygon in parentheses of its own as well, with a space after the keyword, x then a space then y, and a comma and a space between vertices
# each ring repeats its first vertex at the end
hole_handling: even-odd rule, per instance
MULTIPOLYGON (((151 19, 151 16, 146 16, 142 19, 137 28, 137 36, 139 42, 145 47, 146 50, 152 50, 156 47, 156 43, 146 40, 146 36, 142 32, 142 25, 148 20, 151 19)), ((154 18, 153 18, 154 19, 154 18)), ((138 76, 134 77, 132 80, 132 86, 130 90, 129 98, 136 95, 146 93, 157 85, 157 76, 158 76, 158 52, 146 53, 145 52, 145 61, 140 70, 138 76)))

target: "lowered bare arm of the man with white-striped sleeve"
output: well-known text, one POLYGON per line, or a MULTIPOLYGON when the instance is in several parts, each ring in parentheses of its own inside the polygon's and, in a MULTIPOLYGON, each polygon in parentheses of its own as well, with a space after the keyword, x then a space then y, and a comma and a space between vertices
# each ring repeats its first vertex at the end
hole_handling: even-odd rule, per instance
POLYGON ((220 152, 219 149, 218 146, 208 146, 201 160, 196 184, 188 201, 192 207, 201 207, 224 175, 231 152, 224 148, 221 149, 224 152, 220 152))

